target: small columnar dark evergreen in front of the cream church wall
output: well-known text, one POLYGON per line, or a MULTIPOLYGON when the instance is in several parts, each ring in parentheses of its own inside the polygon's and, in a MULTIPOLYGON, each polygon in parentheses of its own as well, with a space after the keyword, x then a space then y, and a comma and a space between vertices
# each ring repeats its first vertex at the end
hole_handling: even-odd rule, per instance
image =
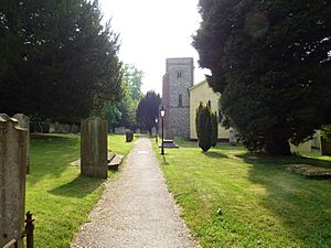
POLYGON ((212 147, 212 136, 213 136, 213 126, 212 126, 212 112, 209 104, 204 107, 200 103, 195 112, 195 127, 199 147, 206 152, 212 147))

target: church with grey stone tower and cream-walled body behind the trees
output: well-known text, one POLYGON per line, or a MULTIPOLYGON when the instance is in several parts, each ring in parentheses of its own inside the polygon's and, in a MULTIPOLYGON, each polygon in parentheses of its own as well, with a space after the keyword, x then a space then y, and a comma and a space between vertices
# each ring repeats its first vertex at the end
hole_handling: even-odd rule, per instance
MULTIPOLYGON (((193 57, 167 58, 162 85, 162 106, 166 109, 164 138, 183 137, 196 140, 195 111, 202 101, 204 105, 209 104, 211 110, 217 115, 218 140, 232 142, 235 140, 234 130, 222 126, 221 95, 214 93, 206 80, 193 85, 193 57)), ((290 145, 292 152, 311 151, 312 141, 309 140, 299 147, 290 145)))

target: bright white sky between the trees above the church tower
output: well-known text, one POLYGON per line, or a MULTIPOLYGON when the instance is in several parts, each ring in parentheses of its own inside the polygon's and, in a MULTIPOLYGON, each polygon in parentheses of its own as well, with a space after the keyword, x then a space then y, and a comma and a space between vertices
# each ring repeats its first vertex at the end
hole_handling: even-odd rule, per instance
POLYGON ((199 29, 199 0, 99 0, 104 19, 120 34, 119 57, 145 74, 142 91, 162 91, 167 57, 194 57, 194 84, 207 71, 199 68, 192 34, 199 29))

